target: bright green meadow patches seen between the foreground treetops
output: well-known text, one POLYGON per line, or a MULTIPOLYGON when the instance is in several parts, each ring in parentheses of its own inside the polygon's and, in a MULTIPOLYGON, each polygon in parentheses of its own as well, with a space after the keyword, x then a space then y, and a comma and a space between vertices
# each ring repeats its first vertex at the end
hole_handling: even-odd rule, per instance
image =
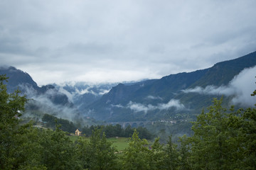
MULTIPOLYGON (((70 140, 72 140, 73 142, 75 142, 76 140, 79 139, 78 136, 68 136, 70 138, 70 140)), ((82 137, 85 140, 90 140, 90 137, 82 137)), ((122 151, 124 150, 126 147, 128 147, 128 143, 129 143, 129 137, 110 137, 107 138, 108 141, 112 142, 113 146, 117 148, 118 151, 122 151)))

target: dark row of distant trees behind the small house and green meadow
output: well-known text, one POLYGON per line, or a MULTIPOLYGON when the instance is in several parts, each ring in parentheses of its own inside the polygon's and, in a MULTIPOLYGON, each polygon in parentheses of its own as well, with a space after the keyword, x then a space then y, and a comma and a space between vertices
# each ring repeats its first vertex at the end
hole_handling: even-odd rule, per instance
MULTIPOLYGON (((73 122, 69 120, 65 120, 62 118, 57 118, 53 115, 44 114, 42 121, 46 124, 47 128, 55 129, 56 125, 61 125, 60 130, 65 132, 74 133, 78 128, 73 122)), ((105 132, 106 137, 132 137, 134 130, 139 132, 139 138, 151 140, 153 135, 146 128, 132 128, 131 125, 128 125, 127 128, 122 128, 121 125, 91 125, 80 128, 82 131, 82 135, 86 137, 90 137, 92 135, 92 131, 96 129, 102 129, 102 132, 105 132)))

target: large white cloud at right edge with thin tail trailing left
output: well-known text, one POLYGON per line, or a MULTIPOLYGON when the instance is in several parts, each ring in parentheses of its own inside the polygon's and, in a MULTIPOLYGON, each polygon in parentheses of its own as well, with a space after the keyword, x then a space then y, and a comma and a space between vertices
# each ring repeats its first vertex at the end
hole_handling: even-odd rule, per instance
POLYGON ((206 86, 202 88, 197 86, 194 89, 185 89, 184 93, 198 93, 206 95, 225 95, 233 96, 233 104, 241 104, 243 106, 254 106, 255 98, 250 96, 252 91, 256 89, 255 76, 256 67, 243 69, 237 76, 235 76, 228 86, 206 86))

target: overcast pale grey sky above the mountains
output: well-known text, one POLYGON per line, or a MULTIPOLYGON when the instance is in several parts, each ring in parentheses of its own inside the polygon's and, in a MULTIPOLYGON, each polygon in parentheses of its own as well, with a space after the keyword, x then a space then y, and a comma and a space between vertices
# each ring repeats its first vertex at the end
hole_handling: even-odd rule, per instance
POLYGON ((0 0, 0 61, 38 85, 159 79, 256 50, 255 0, 0 0))

